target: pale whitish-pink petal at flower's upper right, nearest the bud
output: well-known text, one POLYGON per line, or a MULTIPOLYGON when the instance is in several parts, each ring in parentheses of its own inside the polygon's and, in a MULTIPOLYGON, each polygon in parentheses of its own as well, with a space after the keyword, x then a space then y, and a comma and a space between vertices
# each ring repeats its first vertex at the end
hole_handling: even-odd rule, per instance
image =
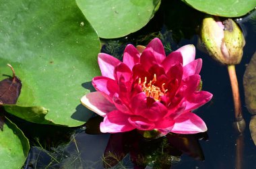
POLYGON ((193 45, 185 45, 176 50, 176 52, 181 52, 183 56, 183 66, 195 60, 195 46, 193 45))

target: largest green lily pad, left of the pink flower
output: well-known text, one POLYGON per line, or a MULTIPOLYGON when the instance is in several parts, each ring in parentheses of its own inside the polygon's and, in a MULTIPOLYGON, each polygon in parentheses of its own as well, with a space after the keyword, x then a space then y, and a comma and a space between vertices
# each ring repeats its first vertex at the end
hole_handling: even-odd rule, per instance
POLYGON ((22 80, 9 113, 36 123, 78 126, 92 115, 80 104, 85 82, 100 74, 100 41, 75 1, 0 3, 0 80, 22 80), (38 119, 39 118, 39 119, 38 119))

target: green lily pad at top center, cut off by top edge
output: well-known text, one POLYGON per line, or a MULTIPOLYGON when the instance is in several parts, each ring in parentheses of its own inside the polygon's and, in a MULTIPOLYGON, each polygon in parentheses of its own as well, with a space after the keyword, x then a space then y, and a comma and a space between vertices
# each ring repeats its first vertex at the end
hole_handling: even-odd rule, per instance
POLYGON ((119 38, 150 21, 160 0, 76 0, 100 38, 119 38))

